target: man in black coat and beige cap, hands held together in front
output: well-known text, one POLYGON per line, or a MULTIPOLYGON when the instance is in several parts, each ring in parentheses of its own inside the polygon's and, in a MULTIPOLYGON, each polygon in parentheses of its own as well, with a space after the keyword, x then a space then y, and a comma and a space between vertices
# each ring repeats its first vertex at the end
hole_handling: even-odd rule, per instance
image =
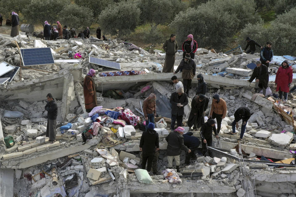
POLYGON ((177 127, 182 126, 184 107, 188 104, 187 94, 184 93, 183 88, 179 88, 177 92, 172 93, 170 103, 172 104, 171 131, 174 131, 176 120, 177 127))

